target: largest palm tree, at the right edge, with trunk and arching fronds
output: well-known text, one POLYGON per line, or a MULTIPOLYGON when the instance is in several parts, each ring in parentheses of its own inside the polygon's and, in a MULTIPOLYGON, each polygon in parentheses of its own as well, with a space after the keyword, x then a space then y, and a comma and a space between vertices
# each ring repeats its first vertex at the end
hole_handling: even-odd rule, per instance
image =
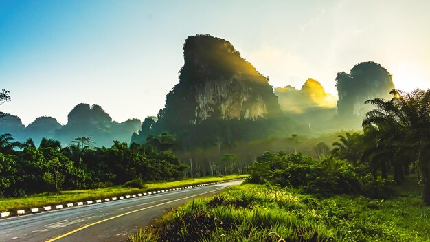
POLYGON ((375 98, 365 102, 376 109, 367 112, 363 126, 385 129, 387 146, 395 151, 394 159, 407 152, 417 154, 422 196, 430 205, 430 89, 410 93, 393 89, 390 94, 393 98, 388 101, 375 98))

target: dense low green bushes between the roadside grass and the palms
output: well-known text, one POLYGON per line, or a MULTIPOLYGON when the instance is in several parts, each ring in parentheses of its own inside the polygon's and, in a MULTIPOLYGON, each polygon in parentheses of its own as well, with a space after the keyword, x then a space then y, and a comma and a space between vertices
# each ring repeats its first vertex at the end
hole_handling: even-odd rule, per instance
POLYGON ((375 179, 363 167, 326 157, 317 162, 302 154, 266 152, 249 168, 249 182, 300 188, 321 195, 350 194, 368 197, 389 197, 389 181, 375 179))

